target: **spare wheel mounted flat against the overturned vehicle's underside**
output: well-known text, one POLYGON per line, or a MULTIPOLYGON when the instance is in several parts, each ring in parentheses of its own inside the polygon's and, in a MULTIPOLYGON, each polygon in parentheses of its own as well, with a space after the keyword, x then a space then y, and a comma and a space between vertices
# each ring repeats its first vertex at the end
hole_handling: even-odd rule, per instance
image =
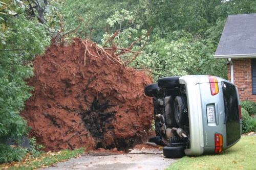
POLYGON ((183 125, 187 120, 187 102, 183 95, 178 95, 174 101, 174 117, 178 125, 183 125))

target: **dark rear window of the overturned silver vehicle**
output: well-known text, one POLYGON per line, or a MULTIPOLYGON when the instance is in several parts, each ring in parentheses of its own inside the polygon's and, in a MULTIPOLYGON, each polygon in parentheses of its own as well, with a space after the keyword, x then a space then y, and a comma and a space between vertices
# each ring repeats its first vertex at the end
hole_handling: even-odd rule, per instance
POLYGON ((221 82, 225 104, 227 146, 240 139, 240 119, 236 86, 221 82))

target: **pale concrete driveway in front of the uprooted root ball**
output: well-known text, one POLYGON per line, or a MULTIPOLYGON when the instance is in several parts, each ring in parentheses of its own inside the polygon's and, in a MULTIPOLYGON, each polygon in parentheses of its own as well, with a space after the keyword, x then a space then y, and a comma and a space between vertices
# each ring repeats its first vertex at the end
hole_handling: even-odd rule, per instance
POLYGON ((90 153, 80 158, 73 158, 69 161, 60 162, 44 170, 63 169, 142 169, 162 170, 177 159, 165 158, 158 148, 134 149, 128 154, 115 153, 90 153))

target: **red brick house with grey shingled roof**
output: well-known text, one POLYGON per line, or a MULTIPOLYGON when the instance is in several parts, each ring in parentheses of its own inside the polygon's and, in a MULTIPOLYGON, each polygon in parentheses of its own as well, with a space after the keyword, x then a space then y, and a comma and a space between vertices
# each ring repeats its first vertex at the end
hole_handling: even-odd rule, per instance
POLYGON ((228 16, 214 57, 227 59, 240 100, 256 102, 256 14, 228 16))

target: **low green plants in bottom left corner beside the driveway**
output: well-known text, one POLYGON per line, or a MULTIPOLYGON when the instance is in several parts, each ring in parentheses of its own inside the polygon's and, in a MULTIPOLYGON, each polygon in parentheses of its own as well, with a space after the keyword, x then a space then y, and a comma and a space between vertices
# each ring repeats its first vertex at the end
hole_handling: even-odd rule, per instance
POLYGON ((9 145, 0 143, 0 164, 22 161, 26 153, 27 149, 21 147, 11 148, 9 145))

